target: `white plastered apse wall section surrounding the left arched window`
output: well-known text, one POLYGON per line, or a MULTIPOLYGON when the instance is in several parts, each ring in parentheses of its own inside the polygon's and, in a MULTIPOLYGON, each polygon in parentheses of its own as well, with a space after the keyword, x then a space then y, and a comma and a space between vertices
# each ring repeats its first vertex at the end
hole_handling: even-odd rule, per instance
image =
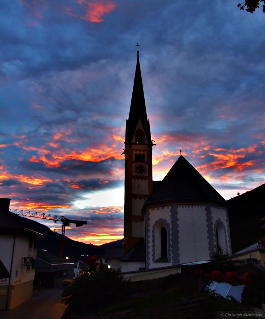
MULTIPOLYGON (((170 242, 170 251, 169 251, 169 256, 168 256, 168 262, 153 262, 153 259, 156 260, 157 257, 161 256, 161 246, 160 246, 160 230, 157 228, 155 229, 155 238, 153 238, 153 225, 155 225, 156 221, 158 221, 159 219, 163 219, 166 220, 166 223, 168 223, 169 225, 171 225, 171 212, 170 212, 170 205, 166 205, 166 206, 158 206, 155 208, 150 208, 149 209, 149 216, 150 216, 150 224, 149 226, 149 236, 150 236, 150 240, 149 240, 149 247, 148 247, 148 251, 149 251, 149 261, 150 261, 150 268, 159 268, 159 267, 167 267, 167 266, 171 266, 172 265, 172 234, 171 234, 171 229, 169 229, 169 234, 168 234, 168 229, 167 229, 167 236, 169 236, 169 242, 170 242), (155 245, 155 256, 153 256, 153 242, 155 245), (158 243, 158 244, 156 244, 158 243), (159 255, 160 253, 160 255, 159 255)), ((160 223, 160 222, 158 222, 160 223)), ((165 226, 164 224, 160 225, 165 226)), ((161 229, 161 228, 160 228, 161 229)), ((148 242, 148 241, 147 241, 148 242)), ((168 247, 169 249, 169 247, 168 247)), ((158 257, 158 258, 159 258, 158 257)))

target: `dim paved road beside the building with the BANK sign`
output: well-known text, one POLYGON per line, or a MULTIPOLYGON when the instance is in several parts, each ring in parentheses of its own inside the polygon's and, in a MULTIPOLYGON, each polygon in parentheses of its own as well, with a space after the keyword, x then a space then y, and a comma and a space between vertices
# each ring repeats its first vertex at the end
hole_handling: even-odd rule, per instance
POLYGON ((66 308, 61 302, 60 289, 36 292, 33 298, 12 310, 0 310, 1 319, 61 319, 66 308))

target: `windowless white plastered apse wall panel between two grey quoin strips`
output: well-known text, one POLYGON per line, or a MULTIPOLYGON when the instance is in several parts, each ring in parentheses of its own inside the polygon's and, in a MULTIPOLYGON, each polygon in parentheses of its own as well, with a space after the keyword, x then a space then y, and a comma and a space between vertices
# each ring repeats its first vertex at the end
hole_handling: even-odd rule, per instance
POLYGON ((179 205, 180 263, 208 260, 205 205, 179 205))

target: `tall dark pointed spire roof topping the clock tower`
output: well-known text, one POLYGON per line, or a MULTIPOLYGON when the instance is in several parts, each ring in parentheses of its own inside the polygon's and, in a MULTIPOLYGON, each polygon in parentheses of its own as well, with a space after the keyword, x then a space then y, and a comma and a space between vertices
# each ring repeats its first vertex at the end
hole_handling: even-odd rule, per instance
POLYGON ((142 122, 144 127, 144 132, 147 137, 147 142, 149 145, 152 144, 150 123, 147 120, 146 107, 144 100, 144 88, 142 82, 142 75, 139 63, 139 55, 137 54, 137 63, 133 84, 132 100, 130 106, 129 118, 126 121, 126 133, 125 133, 125 143, 130 144, 132 142, 133 134, 136 129, 136 125, 139 121, 142 122))

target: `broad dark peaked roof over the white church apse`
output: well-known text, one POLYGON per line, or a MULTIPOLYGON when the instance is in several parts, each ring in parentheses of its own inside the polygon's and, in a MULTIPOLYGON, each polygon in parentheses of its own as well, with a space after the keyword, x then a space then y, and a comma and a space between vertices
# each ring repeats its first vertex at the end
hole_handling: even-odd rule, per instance
POLYGON ((165 201, 225 203, 225 199, 182 155, 163 181, 155 185, 152 195, 145 204, 165 201))

